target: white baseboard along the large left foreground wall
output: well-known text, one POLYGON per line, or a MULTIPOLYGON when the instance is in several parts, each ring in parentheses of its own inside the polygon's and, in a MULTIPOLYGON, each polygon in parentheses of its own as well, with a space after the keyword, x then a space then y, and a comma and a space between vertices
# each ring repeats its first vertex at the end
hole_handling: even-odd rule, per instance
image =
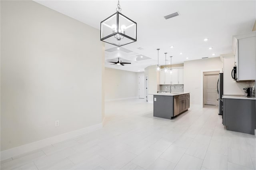
POLYGON ((64 140, 72 139, 74 137, 92 132, 94 130, 98 130, 100 128, 102 128, 102 123, 92 125, 90 127, 85 127, 85 128, 81 128, 81 129, 78 129, 78 130, 74 130, 72 132, 63 133, 63 134, 53 136, 53 137, 50 137, 50 138, 46 138, 46 139, 43 139, 43 140, 38 140, 36 142, 32 142, 32 143, 29 143, 29 144, 24 144, 22 146, 18 146, 18 147, 11 148, 11 149, 8 149, 8 150, 3 150, 3 151, 0 152, 0 155, 1 155, 0 159, 5 160, 5 159, 11 158, 13 156, 18 156, 20 154, 24 154, 26 152, 31 152, 33 150, 38 150, 40 148, 44 148, 44 147, 49 146, 51 144, 55 144, 55 143, 58 143, 58 142, 62 142, 64 140))

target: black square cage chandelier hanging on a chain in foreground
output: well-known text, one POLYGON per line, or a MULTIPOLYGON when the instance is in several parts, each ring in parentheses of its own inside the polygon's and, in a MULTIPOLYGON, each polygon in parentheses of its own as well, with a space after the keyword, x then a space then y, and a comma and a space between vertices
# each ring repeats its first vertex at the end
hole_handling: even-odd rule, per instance
POLYGON ((137 41, 137 23, 121 14, 118 0, 116 13, 100 22, 100 41, 118 47, 137 41))

